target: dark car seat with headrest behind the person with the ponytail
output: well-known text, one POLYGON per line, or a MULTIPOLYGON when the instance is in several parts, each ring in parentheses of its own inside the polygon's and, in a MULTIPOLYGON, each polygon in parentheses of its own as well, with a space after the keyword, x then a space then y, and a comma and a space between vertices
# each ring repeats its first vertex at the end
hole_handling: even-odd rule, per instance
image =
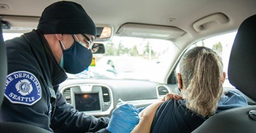
MULTIPOLYGON (((256 101, 256 15, 242 22, 228 65, 228 79, 235 88, 256 101)), ((193 133, 256 132, 256 105, 234 108, 210 117, 193 133)))

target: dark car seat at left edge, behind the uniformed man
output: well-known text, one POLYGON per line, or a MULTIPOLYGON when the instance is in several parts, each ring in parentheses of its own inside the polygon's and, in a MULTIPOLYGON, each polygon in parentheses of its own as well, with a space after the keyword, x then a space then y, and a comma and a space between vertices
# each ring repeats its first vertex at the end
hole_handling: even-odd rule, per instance
MULTIPOLYGON (((4 100, 4 86, 6 81, 6 74, 7 74, 7 61, 6 61, 6 47, 4 45, 3 33, 1 29, 1 22, 0 22, 0 108, 1 104, 4 100)), ((17 122, 2 122, 0 116, 0 132, 26 132, 26 133, 47 133, 49 132, 46 129, 42 129, 41 127, 35 127, 32 125, 27 125, 23 123, 17 122)))

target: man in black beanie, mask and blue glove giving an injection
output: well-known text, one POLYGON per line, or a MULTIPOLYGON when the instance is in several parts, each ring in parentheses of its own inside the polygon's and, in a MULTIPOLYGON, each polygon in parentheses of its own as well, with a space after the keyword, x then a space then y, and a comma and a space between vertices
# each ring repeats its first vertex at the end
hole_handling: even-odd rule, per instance
POLYGON ((95 23, 80 4, 58 1, 43 11, 37 30, 6 40, 8 76, 0 120, 50 132, 130 132, 139 122, 134 105, 121 105, 111 119, 96 118, 75 110, 58 91, 65 72, 77 74, 92 62, 95 35, 95 23))

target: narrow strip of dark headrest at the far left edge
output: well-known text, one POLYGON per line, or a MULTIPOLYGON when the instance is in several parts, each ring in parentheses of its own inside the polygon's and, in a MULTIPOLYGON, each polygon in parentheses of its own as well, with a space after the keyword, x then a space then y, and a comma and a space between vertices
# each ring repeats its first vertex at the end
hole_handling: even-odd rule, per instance
POLYGON ((6 47, 4 45, 3 32, 1 30, 1 21, 0 21, 0 108, 4 100, 4 88, 6 82, 7 74, 7 60, 6 60, 6 47))

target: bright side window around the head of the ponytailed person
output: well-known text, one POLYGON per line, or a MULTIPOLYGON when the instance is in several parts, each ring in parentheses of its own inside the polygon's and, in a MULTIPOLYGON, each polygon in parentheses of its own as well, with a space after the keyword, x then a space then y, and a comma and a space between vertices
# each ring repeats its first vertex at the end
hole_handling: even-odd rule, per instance
MULTIPOLYGON (((193 47, 205 46, 217 52, 223 60, 223 71, 227 73, 223 86, 232 88, 233 86, 228 81, 228 62, 236 33, 237 32, 227 33, 223 35, 217 35, 215 37, 210 37, 205 40, 200 40, 188 47, 186 50, 191 50, 193 47)), ((176 71, 179 71, 178 67, 176 68, 176 71)))

